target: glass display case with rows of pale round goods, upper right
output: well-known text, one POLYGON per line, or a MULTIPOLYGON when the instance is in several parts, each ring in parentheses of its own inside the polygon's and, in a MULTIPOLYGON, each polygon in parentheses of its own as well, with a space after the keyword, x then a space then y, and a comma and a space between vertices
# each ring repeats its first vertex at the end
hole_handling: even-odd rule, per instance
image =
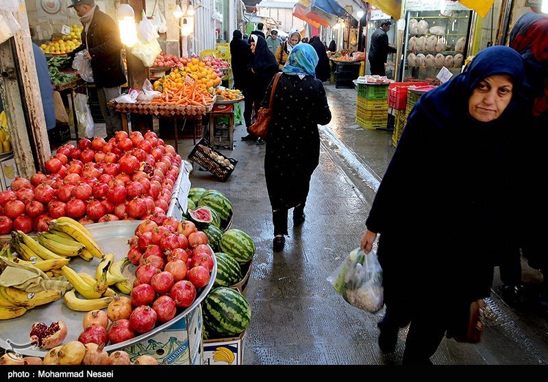
POLYGON ((472 10, 406 10, 403 38, 401 82, 426 81, 439 84, 436 78, 442 67, 458 74, 466 58, 471 33, 472 10))

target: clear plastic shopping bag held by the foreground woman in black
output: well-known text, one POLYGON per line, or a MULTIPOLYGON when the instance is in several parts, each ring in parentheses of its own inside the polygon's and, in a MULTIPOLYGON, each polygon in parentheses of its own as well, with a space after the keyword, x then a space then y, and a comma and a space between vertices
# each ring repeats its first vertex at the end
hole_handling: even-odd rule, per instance
POLYGON ((327 281, 353 307, 376 313, 384 305, 382 267, 374 252, 365 254, 356 248, 327 281))

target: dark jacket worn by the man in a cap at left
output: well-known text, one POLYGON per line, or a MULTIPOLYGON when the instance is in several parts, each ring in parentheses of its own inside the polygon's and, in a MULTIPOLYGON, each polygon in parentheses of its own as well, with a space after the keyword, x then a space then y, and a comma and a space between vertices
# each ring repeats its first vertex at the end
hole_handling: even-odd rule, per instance
POLYGON ((99 88, 113 88, 127 82, 122 60, 120 30, 116 21, 99 8, 93 13, 88 32, 82 31, 82 45, 77 51, 88 49, 91 56, 93 82, 99 88))

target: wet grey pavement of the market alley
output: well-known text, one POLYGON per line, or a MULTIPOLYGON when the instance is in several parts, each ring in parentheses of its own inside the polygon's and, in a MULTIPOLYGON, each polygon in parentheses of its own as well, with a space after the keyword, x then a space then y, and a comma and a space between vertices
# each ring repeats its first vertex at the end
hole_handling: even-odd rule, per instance
MULTIPOLYGON (((238 160, 227 182, 200 171, 198 165, 190 174, 192 187, 218 189, 227 195, 234 205, 232 228, 244 230, 256 243, 245 290, 252 313, 244 339, 245 365, 401 364, 406 329, 399 333, 395 353, 381 353, 376 324, 384 309, 372 314, 353 307, 326 280, 359 246, 375 191, 395 150, 391 132, 364 130, 356 124, 356 91, 332 84, 325 88, 333 118, 320 127, 320 165, 310 184, 306 222, 292 228, 290 211, 283 252, 272 250, 264 145, 240 141, 247 134, 245 126, 235 126, 234 150, 219 149, 238 160)), ((192 139, 179 140, 183 158, 192 147, 192 139)), ((540 272, 522 263, 527 288, 521 303, 510 307, 499 298, 495 269, 493 293, 487 300, 494 315, 482 342, 444 339, 432 357, 434 364, 548 364, 548 320, 534 304, 540 272)), ((435 302, 432 319, 436 319, 435 302)))

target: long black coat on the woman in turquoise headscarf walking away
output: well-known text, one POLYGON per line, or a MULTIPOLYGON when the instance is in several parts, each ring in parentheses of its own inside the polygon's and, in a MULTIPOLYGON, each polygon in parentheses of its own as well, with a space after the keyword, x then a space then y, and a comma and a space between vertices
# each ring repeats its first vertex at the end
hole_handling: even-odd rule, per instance
MULTIPOLYGON (((272 84, 262 106, 267 106, 272 84)), ((292 208, 306 201, 312 172, 319 163, 318 124, 331 121, 320 80, 282 73, 276 85, 273 117, 266 137, 264 176, 273 209, 292 208)))

